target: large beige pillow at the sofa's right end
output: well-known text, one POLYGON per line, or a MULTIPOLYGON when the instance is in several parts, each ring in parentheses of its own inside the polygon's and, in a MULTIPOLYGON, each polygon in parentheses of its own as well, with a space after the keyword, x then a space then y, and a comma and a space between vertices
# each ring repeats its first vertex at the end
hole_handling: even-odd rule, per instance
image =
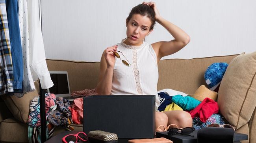
POLYGON ((221 81, 218 105, 226 120, 239 129, 256 106, 256 52, 240 54, 228 65, 221 81))

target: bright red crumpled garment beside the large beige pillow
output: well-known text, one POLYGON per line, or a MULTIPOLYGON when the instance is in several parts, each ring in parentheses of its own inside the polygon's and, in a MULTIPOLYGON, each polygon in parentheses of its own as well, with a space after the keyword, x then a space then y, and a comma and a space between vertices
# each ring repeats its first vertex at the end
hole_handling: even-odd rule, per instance
POLYGON ((189 114, 192 118, 200 117, 202 122, 206 122, 212 114, 219 112, 218 103, 210 98, 204 98, 204 100, 195 109, 191 110, 189 114))

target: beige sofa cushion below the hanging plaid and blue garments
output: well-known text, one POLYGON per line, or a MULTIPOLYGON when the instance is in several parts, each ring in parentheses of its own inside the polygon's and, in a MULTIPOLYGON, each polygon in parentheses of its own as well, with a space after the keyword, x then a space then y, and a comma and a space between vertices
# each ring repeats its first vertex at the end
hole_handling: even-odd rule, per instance
POLYGON ((19 121, 26 123, 28 120, 30 102, 35 96, 38 96, 37 90, 28 92, 21 98, 18 98, 14 95, 3 95, 1 97, 13 116, 19 121))

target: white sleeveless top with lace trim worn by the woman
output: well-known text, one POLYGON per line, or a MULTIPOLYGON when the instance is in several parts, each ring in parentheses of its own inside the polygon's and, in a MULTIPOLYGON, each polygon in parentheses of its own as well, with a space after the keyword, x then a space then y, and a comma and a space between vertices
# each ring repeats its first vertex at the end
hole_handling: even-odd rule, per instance
POLYGON ((111 95, 156 95, 156 110, 160 105, 158 98, 158 65, 156 53, 151 44, 143 42, 140 46, 118 43, 121 60, 130 62, 130 67, 116 58, 113 71, 111 95))

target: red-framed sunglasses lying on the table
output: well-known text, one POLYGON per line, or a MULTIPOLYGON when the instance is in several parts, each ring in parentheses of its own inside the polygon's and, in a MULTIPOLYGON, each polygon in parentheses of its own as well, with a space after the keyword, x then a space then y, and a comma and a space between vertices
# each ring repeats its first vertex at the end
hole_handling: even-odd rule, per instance
POLYGON ((74 143, 88 141, 88 137, 84 132, 78 132, 77 134, 68 134, 62 138, 63 143, 69 143, 69 141, 74 141, 74 143))

